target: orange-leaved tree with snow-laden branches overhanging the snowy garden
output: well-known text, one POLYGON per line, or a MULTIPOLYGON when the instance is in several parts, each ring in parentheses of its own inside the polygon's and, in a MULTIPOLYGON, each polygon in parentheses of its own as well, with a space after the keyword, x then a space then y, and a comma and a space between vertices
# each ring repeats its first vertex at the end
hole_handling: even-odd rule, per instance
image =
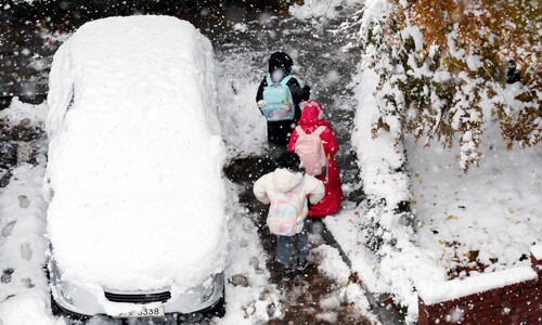
POLYGON ((380 77, 383 115, 400 116, 416 139, 448 147, 459 141, 465 171, 478 165, 482 127, 492 116, 508 148, 540 141, 537 2, 388 0, 387 6, 360 30, 364 52, 377 49, 370 64, 380 77))

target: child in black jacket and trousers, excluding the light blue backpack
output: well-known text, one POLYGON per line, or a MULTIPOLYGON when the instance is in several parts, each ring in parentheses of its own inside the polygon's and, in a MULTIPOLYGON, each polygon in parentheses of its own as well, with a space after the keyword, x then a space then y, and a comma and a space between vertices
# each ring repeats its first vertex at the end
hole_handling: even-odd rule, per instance
MULTIPOLYGON (((283 78, 292 73, 292 66, 294 61, 288 54, 284 52, 274 52, 269 57, 269 75, 273 76, 276 72, 283 75, 283 78)), ((267 76, 260 82, 258 88, 258 93, 256 94, 256 103, 260 107, 263 105, 263 89, 268 86, 267 76)), ((286 86, 289 88, 292 98, 295 105, 295 116, 293 120, 281 120, 281 121, 269 121, 268 120, 268 141, 275 145, 287 145, 289 141, 289 135, 296 128, 297 120, 301 116, 301 109, 299 108, 299 103, 302 101, 308 101, 310 96, 310 87, 305 86, 301 88, 296 78, 291 78, 286 86)), ((261 107, 260 107, 261 108, 261 107)), ((284 148, 285 150, 285 148, 284 148)), ((280 154, 280 153, 276 153, 280 154)))

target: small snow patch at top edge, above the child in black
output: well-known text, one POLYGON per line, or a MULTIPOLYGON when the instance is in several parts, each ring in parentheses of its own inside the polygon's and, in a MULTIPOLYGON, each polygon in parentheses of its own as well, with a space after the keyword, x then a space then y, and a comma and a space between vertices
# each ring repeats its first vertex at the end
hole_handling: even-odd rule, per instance
POLYGON ((319 17, 333 20, 338 16, 338 12, 343 6, 362 2, 362 0, 305 0, 302 5, 294 4, 289 6, 289 13, 299 20, 319 17))

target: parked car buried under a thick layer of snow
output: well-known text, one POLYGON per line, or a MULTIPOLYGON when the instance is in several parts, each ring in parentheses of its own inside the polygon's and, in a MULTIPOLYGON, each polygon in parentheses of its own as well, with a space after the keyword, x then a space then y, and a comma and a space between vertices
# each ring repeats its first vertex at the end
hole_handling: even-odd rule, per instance
POLYGON ((225 154, 210 41, 169 16, 90 22, 55 53, 49 88, 53 307, 223 314, 225 154))

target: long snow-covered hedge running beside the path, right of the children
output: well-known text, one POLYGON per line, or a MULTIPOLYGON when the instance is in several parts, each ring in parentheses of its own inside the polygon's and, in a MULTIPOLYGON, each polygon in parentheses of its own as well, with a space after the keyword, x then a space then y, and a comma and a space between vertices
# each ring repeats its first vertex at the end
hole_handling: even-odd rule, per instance
POLYGON ((380 256, 395 247, 399 237, 408 238, 414 232, 409 208, 410 180, 404 170, 402 114, 395 104, 403 101, 397 78, 402 66, 397 50, 388 44, 388 34, 384 32, 389 28, 390 10, 392 6, 387 2, 366 1, 363 14, 350 25, 360 26, 362 51, 354 80, 360 108, 352 145, 369 203, 363 233, 369 248, 380 256))

